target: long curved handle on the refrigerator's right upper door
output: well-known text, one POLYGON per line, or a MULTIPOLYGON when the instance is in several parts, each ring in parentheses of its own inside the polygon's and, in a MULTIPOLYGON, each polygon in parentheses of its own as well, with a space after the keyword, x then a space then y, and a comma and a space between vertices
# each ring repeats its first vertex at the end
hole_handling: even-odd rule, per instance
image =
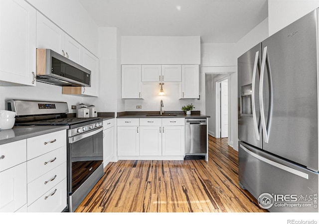
POLYGON ((267 131, 267 125, 266 125, 265 110, 264 110, 264 75, 265 75, 265 67, 266 67, 266 58, 267 58, 267 46, 264 48, 263 58, 261 62, 261 72, 260 72, 260 82, 259 82, 259 105, 260 105, 260 117, 261 117, 261 125, 263 127, 264 141, 268 143, 268 131, 267 131))

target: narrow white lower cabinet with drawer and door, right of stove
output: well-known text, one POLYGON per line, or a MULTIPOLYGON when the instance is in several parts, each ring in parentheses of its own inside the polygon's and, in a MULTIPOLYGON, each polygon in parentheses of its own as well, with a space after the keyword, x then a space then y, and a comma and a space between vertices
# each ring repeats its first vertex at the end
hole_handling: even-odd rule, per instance
POLYGON ((114 149, 114 119, 103 121, 103 166, 111 161, 114 149))

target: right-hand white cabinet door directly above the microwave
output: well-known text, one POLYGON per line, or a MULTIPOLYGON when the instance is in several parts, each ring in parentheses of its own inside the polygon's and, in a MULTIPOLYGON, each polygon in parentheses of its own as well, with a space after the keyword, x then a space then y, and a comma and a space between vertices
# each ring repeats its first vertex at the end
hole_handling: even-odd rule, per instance
POLYGON ((74 61, 75 63, 80 64, 81 55, 84 47, 69 35, 65 34, 64 37, 65 57, 74 61))

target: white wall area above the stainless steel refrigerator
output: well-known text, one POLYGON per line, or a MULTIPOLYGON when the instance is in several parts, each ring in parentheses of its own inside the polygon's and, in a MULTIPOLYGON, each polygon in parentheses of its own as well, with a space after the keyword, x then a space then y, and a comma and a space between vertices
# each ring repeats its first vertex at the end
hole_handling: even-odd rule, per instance
POLYGON ((319 0, 268 0, 269 35, 318 7, 319 0))

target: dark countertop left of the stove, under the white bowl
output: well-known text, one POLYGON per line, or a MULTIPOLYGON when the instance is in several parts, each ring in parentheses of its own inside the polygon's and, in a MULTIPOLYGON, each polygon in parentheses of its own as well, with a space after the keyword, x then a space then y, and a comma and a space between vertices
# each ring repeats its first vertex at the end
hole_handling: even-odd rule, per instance
MULTIPOLYGON (((7 132, 9 130, 13 130, 14 136, 10 138, 0 139, 0 145, 43 135, 43 134, 52 133, 55 131, 66 130, 68 129, 68 127, 69 126, 14 126, 12 129, 2 130, 7 132), (26 132, 25 131, 26 128, 28 129, 31 128, 32 130, 29 130, 28 132, 26 132)), ((66 135, 65 135, 65 138, 66 138, 66 135)))

